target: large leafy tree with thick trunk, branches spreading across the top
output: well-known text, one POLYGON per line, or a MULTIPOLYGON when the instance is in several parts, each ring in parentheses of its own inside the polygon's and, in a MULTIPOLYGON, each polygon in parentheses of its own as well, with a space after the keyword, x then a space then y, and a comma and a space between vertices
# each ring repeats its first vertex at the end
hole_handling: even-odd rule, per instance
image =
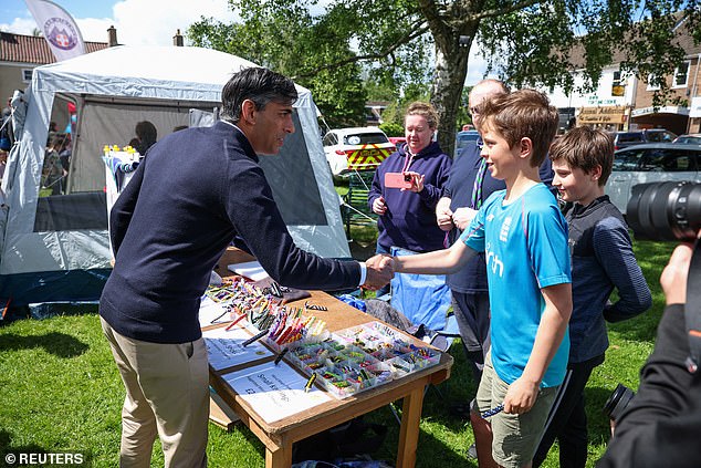
MULTIPOLYGON (((614 51, 638 77, 673 73, 683 58, 674 41, 682 19, 701 40, 699 0, 332 0, 324 9, 317 0, 229 2, 243 20, 229 28, 245 39, 220 38, 220 45, 242 45, 223 50, 251 51, 251 59, 266 59, 259 63, 311 80, 320 102, 333 104, 320 94, 323 86, 341 93, 344 80, 356 84, 358 63, 398 87, 428 79, 430 101, 441 115, 439 142, 449 153, 474 44, 489 70, 512 85, 571 91, 573 70, 583 69, 588 83, 597 83, 614 51)), ((189 35, 206 44, 222 28, 205 21, 189 35)), ((665 86, 659 94, 663 97, 665 86)))

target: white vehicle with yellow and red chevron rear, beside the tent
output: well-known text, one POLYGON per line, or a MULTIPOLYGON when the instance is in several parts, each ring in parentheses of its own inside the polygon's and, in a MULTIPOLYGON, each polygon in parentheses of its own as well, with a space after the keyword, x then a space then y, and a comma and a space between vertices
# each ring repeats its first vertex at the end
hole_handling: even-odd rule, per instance
POLYGON ((374 170, 396 150, 378 127, 353 127, 328 131, 323 139, 324 153, 334 177, 354 170, 374 170))

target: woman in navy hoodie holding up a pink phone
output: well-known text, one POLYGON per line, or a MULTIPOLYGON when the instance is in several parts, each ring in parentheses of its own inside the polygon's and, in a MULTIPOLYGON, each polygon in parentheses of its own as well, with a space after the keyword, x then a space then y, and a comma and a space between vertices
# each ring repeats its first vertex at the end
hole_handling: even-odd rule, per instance
MULTIPOLYGON (((400 247, 415 252, 443 248, 443 231, 436 225, 436 205, 452 159, 433 142, 438 113, 431 104, 415 102, 405 114, 407 143, 385 159, 367 196, 377 220, 377 253, 400 247)), ((380 297, 389 291, 377 291, 380 297)))

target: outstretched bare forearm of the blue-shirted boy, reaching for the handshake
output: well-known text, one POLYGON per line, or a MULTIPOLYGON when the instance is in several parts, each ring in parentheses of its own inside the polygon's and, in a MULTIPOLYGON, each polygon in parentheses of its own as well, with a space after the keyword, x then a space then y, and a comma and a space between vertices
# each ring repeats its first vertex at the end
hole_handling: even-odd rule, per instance
POLYGON ((459 271, 477 252, 458 239, 450 248, 418 256, 393 257, 395 273, 450 274, 459 271))

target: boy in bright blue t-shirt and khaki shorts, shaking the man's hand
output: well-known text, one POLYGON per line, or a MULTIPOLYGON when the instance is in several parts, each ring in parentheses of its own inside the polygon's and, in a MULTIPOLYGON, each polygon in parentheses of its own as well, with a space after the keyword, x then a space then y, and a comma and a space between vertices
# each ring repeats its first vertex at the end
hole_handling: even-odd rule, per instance
POLYGON ((396 272, 444 274, 483 251, 492 347, 471 415, 480 466, 527 467, 567 365, 572 288, 567 225, 538 167, 557 129, 557 111, 533 90, 480 107, 482 157, 504 180, 449 249, 394 258, 396 272), (490 417, 480 414, 503 405, 490 417))

